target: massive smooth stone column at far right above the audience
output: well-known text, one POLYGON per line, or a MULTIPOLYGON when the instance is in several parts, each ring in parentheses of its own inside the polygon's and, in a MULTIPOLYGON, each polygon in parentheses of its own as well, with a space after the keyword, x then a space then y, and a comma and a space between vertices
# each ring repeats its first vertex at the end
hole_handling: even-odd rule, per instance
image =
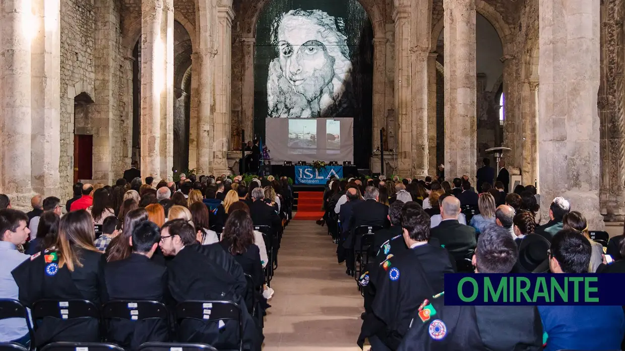
POLYGON ((540 0, 539 18, 541 207, 562 196, 599 230, 599 1, 540 0))

